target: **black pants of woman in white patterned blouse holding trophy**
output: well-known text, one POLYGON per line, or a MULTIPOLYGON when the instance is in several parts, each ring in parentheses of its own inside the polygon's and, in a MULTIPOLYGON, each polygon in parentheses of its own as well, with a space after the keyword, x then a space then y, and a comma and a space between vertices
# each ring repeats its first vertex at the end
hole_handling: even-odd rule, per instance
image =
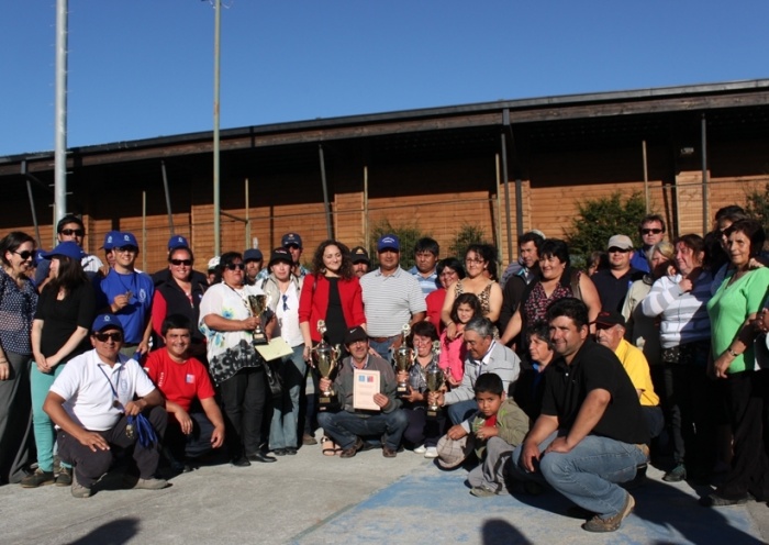
POLYGON ((245 367, 220 387, 227 448, 232 457, 259 451, 266 387, 261 367, 245 367))

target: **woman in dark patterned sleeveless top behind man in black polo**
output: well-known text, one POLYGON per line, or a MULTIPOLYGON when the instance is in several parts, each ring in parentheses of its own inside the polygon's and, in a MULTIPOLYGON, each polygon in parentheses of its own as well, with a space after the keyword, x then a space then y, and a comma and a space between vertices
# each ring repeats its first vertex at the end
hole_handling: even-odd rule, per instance
POLYGON ((576 297, 588 307, 593 322, 601 310, 601 300, 588 275, 570 267, 569 248, 559 238, 546 238, 539 247, 539 278, 532 281, 521 296, 519 310, 500 337, 502 344, 515 338, 522 330, 545 320, 547 308, 559 299, 576 297))

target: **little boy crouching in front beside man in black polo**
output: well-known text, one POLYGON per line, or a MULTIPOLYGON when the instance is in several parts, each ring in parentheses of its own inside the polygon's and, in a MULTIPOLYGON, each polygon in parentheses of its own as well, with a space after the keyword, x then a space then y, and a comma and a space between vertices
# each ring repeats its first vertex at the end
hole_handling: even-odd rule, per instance
POLYGON ((467 476, 470 493, 478 498, 506 492, 504 467, 513 449, 528 433, 528 416, 512 399, 505 399, 502 379, 484 372, 475 386, 478 412, 448 430, 448 437, 459 440, 469 435, 480 465, 467 476))

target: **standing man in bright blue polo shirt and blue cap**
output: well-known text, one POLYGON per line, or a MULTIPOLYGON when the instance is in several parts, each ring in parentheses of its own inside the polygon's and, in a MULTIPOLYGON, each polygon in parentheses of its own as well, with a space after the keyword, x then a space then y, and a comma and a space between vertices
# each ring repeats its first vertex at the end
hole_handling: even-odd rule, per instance
POLYGON ((149 316, 155 285, 148 275, 138 272, 134 267, 138 243, 132 233, 119 233, 112 244, 115 263, 96 285, 97 309, 120 320, 125 334, 122 354, 132 356, 138 352, 144 355, 149 351, 149 316))

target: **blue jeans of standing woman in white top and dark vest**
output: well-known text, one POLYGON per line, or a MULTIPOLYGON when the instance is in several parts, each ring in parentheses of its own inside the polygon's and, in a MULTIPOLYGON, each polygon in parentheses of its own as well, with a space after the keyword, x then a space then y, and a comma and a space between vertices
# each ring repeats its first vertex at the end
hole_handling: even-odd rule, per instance
POLYGON ((286 356, 278 367, 283 379, 283 396, 272 401, 272 421, 269 426, 269 447, 296 448, 297 422, 299 421, 299 393, 304 382, 307 362, 304 343, 293 347, 293 354, 286 356))

